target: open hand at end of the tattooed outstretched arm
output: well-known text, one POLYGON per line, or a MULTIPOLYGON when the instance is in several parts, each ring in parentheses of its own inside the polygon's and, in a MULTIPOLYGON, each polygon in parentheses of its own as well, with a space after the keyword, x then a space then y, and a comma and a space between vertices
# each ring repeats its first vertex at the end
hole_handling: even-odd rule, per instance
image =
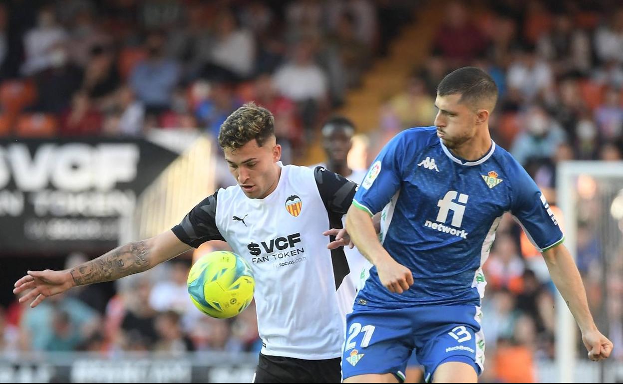
POLYGON ((39 305, 45 297, 63 293, 75 285, 69 271, 28 271, 28 274, 15 282, 14 294, 19 294, 27 289, 31 291, 19 298, 19 302, 31 302, 31 308, 39 305))

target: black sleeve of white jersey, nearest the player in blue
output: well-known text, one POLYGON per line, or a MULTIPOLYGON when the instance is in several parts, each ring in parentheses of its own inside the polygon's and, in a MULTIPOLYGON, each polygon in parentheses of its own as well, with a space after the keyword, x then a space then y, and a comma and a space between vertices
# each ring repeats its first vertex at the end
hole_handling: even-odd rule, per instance
POLYGON ((340 215, 348 212, 359 185, 324 167, 316 167, 314 176, 326 210, 340 215))

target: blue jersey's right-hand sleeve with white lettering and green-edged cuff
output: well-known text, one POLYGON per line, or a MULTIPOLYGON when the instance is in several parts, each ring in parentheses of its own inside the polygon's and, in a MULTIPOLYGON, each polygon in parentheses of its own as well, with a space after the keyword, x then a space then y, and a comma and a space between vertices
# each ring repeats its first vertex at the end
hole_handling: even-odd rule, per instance
POLYGON ((511 213, 533 245, 543 252, 562 243, 563 232, 534 180, 523 167, 516 166, 511 213))

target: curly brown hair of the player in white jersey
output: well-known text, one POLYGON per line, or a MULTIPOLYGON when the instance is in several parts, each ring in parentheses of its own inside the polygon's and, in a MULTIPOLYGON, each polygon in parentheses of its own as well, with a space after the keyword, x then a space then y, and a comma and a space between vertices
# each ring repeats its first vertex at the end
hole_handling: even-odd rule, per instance
POLYGON ((255 139, 258 146, 275 136, 275 118, 269 110, 253 102, 235 110, 221 124, 219 146, 238 149, 255 139))

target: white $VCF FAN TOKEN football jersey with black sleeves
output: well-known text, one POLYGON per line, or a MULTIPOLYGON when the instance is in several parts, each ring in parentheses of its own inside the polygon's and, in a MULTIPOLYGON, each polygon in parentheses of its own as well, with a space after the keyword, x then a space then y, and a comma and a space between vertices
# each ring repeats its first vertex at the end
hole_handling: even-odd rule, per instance
POLYGON ((355 291, 344 250, 328 250, 322 233, 341 228, 356 184, 326 169, 278 164, 277 188, 264 199, 249 199, 238 185, 220 189, 173 232, 194 247, 225 240, 249 261, 262 354, 341 357, 355 291))

